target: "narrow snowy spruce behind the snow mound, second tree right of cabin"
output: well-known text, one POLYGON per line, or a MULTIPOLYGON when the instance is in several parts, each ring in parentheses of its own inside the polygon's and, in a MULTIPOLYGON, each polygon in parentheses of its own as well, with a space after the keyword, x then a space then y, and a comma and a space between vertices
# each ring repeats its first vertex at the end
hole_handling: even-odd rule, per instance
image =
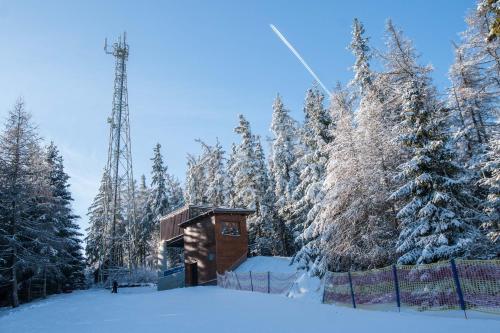
POLYGON ((284 107, 278 95, 273 104, 271 121, 271 154, 269 172, 272 174, 274 190, 277 237, 283 248, 282 255, 290 256, 296 252, 292 230, 291 212, 292 193, 298 184, 298 170, 294 169, 297 159, 297 125, 284 107))

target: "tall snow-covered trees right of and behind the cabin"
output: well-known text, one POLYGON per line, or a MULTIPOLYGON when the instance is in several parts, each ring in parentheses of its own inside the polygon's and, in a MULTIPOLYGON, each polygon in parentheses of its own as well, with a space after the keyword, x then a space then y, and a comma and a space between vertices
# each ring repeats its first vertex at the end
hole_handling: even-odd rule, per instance
POLYGON ((307 91, 300 122, 277 96, 267 158, 242 115, 229 154, 200 141, 202 153, 188 158, 187 202, 255 209, 251 251, 293 256, 315 274, 498 257, 495 15, 479 6, 467 17, 444 93, 391 21, 385 50, 373 52, 354 20, 349 85, 326 98, 307 91))

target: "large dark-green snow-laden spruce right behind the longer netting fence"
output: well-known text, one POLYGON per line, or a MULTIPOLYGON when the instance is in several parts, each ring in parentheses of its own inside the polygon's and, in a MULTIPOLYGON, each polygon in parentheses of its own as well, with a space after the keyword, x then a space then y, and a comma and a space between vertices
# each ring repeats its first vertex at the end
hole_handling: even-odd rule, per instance
POLYGON ((404 89, 401 142, 411 159, 401 165, 406 183, 391 196, 403 202, 397 215, 398 262, 483 257, 487 241, 478 228, 483 217, 453 162, 434 89, 425 75, 415 76, 404 89))

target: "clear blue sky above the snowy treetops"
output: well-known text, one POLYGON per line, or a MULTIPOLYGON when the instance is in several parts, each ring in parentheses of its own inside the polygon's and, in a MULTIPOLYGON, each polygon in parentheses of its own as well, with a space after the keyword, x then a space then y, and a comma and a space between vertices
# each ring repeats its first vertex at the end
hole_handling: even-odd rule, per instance
POLYGON ((452 40, 473 0, 401 1, 0 1, 0 117, 19 96, 45 140, 59 146, 82 216, 106 161, 114 62, 104 37, 126 30, 136 178, 149 174, 152 147, 184 178, 186 154, 201 138, 226 149, 244 114, 269 135, 276 93, 297 119, 313 80, 272 33, 275 24, 327 87, 351 78, 346 49, 354 17, 383 49, 392 18, 446 88, 452 40))

